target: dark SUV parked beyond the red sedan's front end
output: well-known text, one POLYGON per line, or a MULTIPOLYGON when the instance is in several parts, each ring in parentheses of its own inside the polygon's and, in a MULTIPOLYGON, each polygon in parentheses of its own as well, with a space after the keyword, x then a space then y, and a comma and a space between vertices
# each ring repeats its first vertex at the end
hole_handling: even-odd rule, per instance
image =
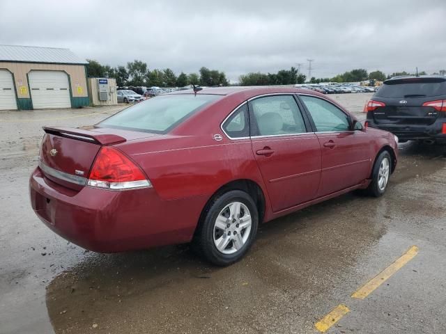
POLYGON ((400 142, 446 143, 446 77, 394 77, 364 106, 366 127, 390 131, 400 142))

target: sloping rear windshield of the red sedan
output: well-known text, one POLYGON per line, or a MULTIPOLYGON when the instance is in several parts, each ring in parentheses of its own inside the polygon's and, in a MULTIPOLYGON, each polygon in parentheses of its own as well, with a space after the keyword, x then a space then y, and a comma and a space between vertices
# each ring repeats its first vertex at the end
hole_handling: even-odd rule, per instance
POLYGON ((99 127, 165 134, 220 95, 161 95, 124 109, 99 127))

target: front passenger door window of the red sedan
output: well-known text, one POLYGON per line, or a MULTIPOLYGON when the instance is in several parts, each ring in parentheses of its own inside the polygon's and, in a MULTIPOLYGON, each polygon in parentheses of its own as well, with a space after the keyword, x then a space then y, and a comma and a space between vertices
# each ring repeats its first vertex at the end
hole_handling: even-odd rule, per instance
POLYGON ((317 132, 341 132, 350 129, 348 116, 334 104, 306 95, 301 95, 300 100, 312 116, 317 132))

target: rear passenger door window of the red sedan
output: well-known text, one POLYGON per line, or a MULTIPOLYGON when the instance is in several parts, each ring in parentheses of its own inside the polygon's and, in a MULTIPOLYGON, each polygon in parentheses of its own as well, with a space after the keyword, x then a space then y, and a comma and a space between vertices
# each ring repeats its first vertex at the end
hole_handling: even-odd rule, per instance
POLYGON ((249 111, 259 136, 307 132, 298 104, 292 95, 259 97, 249 102, 249 111))

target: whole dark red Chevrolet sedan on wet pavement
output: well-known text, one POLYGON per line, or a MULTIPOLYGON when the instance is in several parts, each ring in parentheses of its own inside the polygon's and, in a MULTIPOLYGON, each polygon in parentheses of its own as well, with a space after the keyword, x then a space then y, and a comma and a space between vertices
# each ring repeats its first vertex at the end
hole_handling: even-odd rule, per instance
POLYGON ((54 232, 103 253, 192 241, 219 265, 261 222, 355 189, 382 195, 397 164, 393 134, 295 88, 184 90, 44 130, 31 204, 54 232))

